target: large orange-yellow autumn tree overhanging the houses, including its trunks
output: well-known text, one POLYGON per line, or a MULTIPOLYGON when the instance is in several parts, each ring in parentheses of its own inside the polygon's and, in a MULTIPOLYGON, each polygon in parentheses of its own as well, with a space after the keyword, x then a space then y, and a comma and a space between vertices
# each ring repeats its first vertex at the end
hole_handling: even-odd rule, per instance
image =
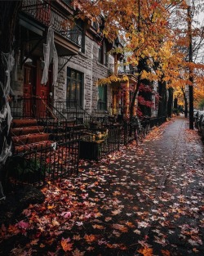
MULTIPOLYGON (((183 48, 177 46, 180 38, 177 37, 175 40, 178 30, 176 30, 174 20, 171 19, 172 16, 175 18, 180 8, 186 11, 184 1, 78 0, 74 3, 80 10, 78 17, 83 19, 88 17, 100 23, 101 31, 99 32, 102 32, 109 41, 114 41, 117 37, 125 39, 126 46, 122 51, 131 52, 126 64, 135 65, 137 71, 131 115, 140 84, 151 87, 153 81, 157 81, 161 89, 160 108, 165 109, 166 88, 174 86, 175 80, 180 77, 180 70, 188 68, 184 56, 186 52, 183 51, 183 48, 188 47, 188 43, 185 42, 183 48)), ((184 16, 184 11, 180 12, 179 16, 184 16)), ((116 48, 114 51, 119 52, 121 49, 116 48)), ((112 79, 117 80, 116 77, 112 79)), ((107 82, 109 79, 105 79, 105 83, 107 82)))

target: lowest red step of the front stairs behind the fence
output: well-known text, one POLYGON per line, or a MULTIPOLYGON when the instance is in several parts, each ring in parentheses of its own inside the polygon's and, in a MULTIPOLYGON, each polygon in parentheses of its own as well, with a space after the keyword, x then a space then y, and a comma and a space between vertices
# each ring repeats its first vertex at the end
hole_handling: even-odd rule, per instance
POLYGON ((54 145, 55 145, 54 141, 48 140, 48 141, 39 141, 35 143, 29 143, 26 145, 15 146, 15 154, 30 152, 32 150, 42 150, 54 145))

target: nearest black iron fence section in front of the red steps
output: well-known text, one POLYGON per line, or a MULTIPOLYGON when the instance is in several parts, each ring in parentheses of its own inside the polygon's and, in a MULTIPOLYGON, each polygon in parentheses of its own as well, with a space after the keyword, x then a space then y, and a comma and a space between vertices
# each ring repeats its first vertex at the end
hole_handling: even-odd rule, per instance
POLYGON ((78 141, 24 147, 12 156, 7 171, 11 183, 37 186, 78 175, 78 141))

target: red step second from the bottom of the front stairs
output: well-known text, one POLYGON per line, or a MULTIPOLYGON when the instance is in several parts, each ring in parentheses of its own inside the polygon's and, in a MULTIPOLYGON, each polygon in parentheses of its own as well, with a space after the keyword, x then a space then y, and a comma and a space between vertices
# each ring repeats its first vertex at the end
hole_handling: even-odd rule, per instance
POLYGON ((14 146, 20 146, 23 144, 30 144, 35 143, 39 141, 47 141, 49 140, 49 133, 32 133, 32 134, 25 134, 20 135, 16 137, 12 137, 12 140, 14 142, 14 146))

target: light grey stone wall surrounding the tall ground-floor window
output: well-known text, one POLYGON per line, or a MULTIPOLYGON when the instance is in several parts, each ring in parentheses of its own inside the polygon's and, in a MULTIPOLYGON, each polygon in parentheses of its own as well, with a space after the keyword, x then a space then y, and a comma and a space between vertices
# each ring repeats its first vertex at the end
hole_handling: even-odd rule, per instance
MULTIPOLYGON (((57 84, 54 88, 54 101, 66 101, 67 99, 67 70, 72 69, 82 74, 82 108, 89 114, 97 112, 97 103, 99 101, 99 86, 97 81, 109 77, 109 65, 113 64, 114 58, 107 55, 109 65, 103 65, 98 60, 99 45, 94 40, 85 37, 84 52, 79 52, 73 56, 67 65, 60 71, 57 84)), ((60 61, 63 65, 64 61, 60 61)), ((109 111, 112 102, 112 89, 107 85, 107 106, 106 111, 109 111)))

